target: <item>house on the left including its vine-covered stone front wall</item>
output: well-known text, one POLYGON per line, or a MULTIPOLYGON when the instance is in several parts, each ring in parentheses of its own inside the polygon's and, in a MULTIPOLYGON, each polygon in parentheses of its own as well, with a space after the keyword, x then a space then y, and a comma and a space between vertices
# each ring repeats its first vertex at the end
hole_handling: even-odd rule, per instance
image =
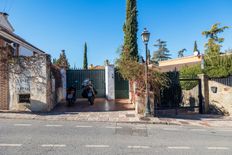
POLYGON ((50 55, 14 33, 0 13, 0 110, 50 111, 64 98, 50 55))

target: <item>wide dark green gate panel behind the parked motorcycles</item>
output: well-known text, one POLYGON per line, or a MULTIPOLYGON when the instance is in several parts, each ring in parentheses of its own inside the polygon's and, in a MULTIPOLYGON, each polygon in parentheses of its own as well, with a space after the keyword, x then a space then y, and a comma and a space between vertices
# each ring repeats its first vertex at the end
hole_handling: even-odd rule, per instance
POLYGON ((105 70, 67 70, 67 88, 75 85, 77 97, 81 98, 81 84, 85 79, 93 81, 97 97, 105 97, 105 70))

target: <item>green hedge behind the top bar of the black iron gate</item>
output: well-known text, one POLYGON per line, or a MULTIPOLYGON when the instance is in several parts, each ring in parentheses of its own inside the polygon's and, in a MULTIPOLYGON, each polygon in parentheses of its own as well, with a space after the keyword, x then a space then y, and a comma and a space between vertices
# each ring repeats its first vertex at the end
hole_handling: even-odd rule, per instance
MULTIPOLYGON (((196 79, 198 74, 201 74, 201 66, 185 66, 180 70, 180 78, 183 79, 196 79)), ((180 81, 181 88, 183 90, 191 90, 197 86, 198 81, 180 81)))

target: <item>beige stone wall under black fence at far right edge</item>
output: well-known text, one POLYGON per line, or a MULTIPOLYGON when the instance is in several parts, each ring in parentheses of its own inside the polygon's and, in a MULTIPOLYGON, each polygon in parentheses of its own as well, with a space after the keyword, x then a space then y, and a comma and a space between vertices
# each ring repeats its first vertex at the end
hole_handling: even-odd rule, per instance
POLYGON ((209 102, 211 113, 232 115, 232 87, 209 80, 209 102))

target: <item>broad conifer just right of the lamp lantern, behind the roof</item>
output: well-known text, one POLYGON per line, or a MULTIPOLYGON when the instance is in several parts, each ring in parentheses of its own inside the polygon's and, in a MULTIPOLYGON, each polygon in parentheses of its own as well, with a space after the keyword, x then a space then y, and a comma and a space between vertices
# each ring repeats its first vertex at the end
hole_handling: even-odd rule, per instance
POLYGON ((166 41, 158 39, 157 44, 155 44, 154 46, 158 47, 158 50, 153 52, 152 61, 154 63, 157 64, 159 61, 171 59, 169 50, 167 49, 166 41))

